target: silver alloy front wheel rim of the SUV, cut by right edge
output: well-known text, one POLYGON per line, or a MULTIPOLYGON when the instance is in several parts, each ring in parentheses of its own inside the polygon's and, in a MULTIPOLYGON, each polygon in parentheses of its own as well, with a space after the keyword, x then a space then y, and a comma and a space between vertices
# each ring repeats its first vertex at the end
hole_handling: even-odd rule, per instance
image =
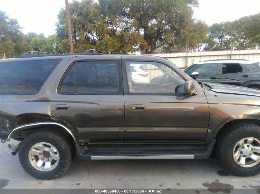
POLYGON ((234 161, 245 168, 260 162, 260 141, 253 137, 241 139, 233 149, 234 161))

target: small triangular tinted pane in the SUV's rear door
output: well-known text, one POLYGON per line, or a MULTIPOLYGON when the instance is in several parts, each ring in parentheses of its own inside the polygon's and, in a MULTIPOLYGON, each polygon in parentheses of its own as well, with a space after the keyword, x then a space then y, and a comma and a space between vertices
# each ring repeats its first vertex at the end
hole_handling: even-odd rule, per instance
POLYGON ((73 64, 70 69, 67 71, 62 84, 60 86, 60 92, 62 93, 75 93, 75 83, 74 83, 74 72, 75 64, 73 64))

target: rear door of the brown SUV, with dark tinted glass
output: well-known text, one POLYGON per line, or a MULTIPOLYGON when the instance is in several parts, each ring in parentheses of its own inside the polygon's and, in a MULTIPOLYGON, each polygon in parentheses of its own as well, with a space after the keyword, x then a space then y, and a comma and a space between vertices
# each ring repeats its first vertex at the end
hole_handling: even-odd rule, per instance
POLYGON ((70 61, 51 96, 51 116, 68 123, 80 143, 124 140, 122 71, 117 58, 70 61))

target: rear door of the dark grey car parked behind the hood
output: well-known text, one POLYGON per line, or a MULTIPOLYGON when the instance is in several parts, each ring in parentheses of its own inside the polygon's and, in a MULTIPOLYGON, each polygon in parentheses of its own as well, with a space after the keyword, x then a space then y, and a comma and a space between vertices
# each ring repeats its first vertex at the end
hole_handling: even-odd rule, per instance
POLYGON ((220 63, 219 83, 242 86, 252 80, 252 74, 239 63, 220 63))

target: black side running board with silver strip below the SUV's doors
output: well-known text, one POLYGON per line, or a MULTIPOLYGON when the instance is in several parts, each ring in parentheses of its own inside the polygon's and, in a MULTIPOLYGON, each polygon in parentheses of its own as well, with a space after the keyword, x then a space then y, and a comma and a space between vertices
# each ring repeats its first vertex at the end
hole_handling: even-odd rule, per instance
POLYGON ((187 144, 102 144, 80 145, 75 142, 79 159, 87 160, 147 160, 147 159, 205 159, 216 142, 208 145, 187 144))

